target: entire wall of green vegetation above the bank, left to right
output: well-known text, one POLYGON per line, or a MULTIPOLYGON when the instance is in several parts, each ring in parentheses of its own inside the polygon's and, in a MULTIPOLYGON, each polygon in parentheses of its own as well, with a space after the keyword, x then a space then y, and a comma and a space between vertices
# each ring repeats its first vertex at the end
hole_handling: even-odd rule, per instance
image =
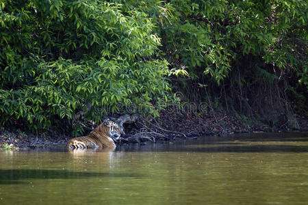
POLYGON ((176 91, 291 123, 307 111, 307 14, 300 0, 1 0, 0 123, 79 131, 157 115, 176 91))

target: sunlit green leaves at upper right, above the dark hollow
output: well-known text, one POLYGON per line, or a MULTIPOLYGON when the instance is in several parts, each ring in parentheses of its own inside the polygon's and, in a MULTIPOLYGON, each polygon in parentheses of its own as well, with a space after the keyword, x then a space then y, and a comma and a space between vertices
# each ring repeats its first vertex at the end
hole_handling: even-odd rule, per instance
MULTIPOLYGON (((156 14, 162 50, 175 66, 187 67, 193 79, 210 74, 220 83, 235 65, 255 56, 272 68, 295 70, 300 82, 307 83, 306 1, 168 2, 169 12, 156 14)), ((248 69, 259 61, 251 63, 248 69)))

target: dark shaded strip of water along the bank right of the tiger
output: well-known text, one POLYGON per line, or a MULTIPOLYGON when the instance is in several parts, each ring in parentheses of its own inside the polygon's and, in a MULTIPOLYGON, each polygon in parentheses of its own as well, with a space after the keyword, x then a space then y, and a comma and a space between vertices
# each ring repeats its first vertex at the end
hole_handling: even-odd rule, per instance
POLYGON ((153 146, 151 144, 146 146, 131 144, 117 147, 116 150, 125 152, 308 152, 306 134, 250 133, 233 136, 207 136, 198 137, 196 140, 153 143, 153 146))

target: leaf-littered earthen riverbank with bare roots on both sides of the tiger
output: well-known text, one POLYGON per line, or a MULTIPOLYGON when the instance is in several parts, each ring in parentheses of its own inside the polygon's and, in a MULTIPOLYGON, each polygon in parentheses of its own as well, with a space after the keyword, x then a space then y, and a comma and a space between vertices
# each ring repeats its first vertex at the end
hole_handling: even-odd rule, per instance
MULTIPOLYGON (((296 118, 300 129, 308 129, 307 118, 296 118)), ((178 139, 194 139, 205 135, 229 135, 233 133, 253 133, 290 131, 283 127, 285 122, 268 126, 260 122, 243 122, 239 118, 216 112, 213 115, 196 115, 188 113, 170 114, 166 111, 160 113, 158 119, 138 120, 136 124, 125 127, 127 135, 119 143, 144 143, 146 141, 168 141, 178 139), (144 130, 146 129, 146 132, 144 130)), ((25 133, 21 130, 0 131, 0 149, 16 150, 20 148, 50 148, 66 144, 70 135, 45 131, 44 133, 25 133)))

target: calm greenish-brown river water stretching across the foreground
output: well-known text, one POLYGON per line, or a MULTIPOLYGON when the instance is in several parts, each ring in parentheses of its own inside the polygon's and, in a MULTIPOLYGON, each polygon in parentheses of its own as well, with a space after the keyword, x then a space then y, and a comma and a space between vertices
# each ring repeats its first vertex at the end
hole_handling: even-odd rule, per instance
POLYGON ((307 204, 308 133, 0 152, 0 204, 307 204))

